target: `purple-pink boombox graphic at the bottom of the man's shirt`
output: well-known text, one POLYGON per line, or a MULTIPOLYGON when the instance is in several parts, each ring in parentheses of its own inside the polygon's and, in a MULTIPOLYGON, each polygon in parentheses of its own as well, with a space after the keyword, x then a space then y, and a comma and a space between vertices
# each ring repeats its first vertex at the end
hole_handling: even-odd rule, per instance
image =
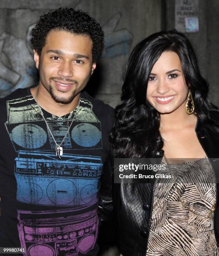
POLYGON ((18 210, 18 232, 24 256, 76 256, 94 248, 97 240, 97 210, 33 212, 18 210))

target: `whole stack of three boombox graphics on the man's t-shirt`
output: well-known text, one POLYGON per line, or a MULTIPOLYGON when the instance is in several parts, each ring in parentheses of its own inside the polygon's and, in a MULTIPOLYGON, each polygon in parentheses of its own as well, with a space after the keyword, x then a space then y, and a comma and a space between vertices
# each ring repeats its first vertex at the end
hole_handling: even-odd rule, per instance
POLYGON ((101 123, 92 103, 81 99, 78 110, 67 118, 46 117, 56 143, 60 144, 67 133, 62 160, 56 156, 55 142, 32 96, 9 100, 7 107, 5 126, 17 152, 17 200, 26 204, 25 209, 39 207, 38 211, 18 209, 24 255, 87 253, 97 240, 97 195, 103 165, 98 155, 102 149, 101 123), (52 210, 42 210, 42 206, 52 210))

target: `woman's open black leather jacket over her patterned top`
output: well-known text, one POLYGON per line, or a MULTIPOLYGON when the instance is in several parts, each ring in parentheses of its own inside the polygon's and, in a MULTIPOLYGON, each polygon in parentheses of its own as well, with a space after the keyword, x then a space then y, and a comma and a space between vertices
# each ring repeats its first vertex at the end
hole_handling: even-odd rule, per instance
MULTIPOLYGON (((211 118, 219 122, 219 112, 211 111, 211 118)), ((204 125, 200 121, 196 125, 196 135, 213 166, 216 180, 219 182, 219 133, 214 127, 204 125)), ((159 160, 163 158, 163 150, 157 152, 159 160)), ((110 168, 110 166, 108 166, 110 168)), ((109 170, 109 169, 108 169, 109 170)), ((108 172, 109 174, 109 172, 108 172)), ((108 178, 108 181, 110 179, 108 178)), ((104 186, 104 184, 102 184, 104 186)), ((145 256, 150 232, 153 206, 154 182, 146 184, 114 184, 113 206, 117 229, 117 244, 123 256, 145 256)), ((112 210, 110 185, 106 186, 105 195, 101 195, 100 209, 103 213, 112 210)), ((216 192, 219 191, 219 184, 216 192)), ((214 212, 214 232, 217 245, 219 243, 219 206, 216 193, 216 210, 214 212)), ((106 215, 105 215, 106 216, 106 215)), ((104 220, 104 218, 101 218, 104 220)))

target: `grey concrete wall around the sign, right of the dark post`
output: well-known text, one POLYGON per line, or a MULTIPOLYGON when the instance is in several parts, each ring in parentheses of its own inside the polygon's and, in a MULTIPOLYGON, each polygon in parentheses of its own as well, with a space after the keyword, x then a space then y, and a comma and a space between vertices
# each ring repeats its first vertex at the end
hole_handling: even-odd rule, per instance
MULTIPOLYGON (((176 0, 177 1, 177 0, 176 0)), ((166 29, 174 28, 175 0, 166 0, 166 29)), ((199 32, 185 33, 199 60, 201 73, 210 84, 209 100, 219 107, 219 1, 199 0, 199 32)))

